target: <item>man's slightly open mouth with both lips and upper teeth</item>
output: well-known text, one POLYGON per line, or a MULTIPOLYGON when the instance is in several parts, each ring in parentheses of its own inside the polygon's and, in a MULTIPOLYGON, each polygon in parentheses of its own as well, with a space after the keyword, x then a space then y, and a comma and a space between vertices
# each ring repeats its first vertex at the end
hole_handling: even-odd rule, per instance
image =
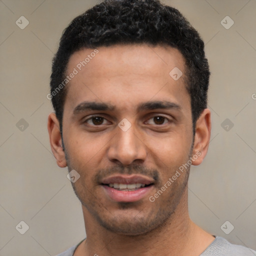
POLYGON ((142 175, 115 175, 102 180, 108 198, 117 202, 134 202, 146 196, 154 180, 142 175))

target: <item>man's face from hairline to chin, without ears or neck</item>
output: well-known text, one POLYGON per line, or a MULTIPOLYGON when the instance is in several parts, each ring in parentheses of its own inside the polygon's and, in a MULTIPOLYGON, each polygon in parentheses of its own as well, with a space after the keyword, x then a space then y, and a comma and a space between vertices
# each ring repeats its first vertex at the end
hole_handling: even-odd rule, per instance
POLYGON ((72 185, 84 212, 101 226, 145 233, 185 198, 189 168, 149 200, 192 154, 184 61, 171 47, 114 45, 99 47, 79 70, 91 52, 75 52, 66 72, 78 71, 67 85, 63 111, 68 169, 80 175, 72 185), (183 72, 177 80, 169 75, 174 67, 183 72))

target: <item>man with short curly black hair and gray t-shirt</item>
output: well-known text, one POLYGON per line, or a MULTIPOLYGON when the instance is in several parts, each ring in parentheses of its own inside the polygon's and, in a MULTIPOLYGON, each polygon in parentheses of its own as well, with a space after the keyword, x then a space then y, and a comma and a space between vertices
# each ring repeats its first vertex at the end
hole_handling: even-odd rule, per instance
POLYGON ((69 24, 48 131, 87 237, 59 255, 254 255, 188 215, 189 168, 210 138, 208 80, 197 31, 158 0, 106 0, 69 24))

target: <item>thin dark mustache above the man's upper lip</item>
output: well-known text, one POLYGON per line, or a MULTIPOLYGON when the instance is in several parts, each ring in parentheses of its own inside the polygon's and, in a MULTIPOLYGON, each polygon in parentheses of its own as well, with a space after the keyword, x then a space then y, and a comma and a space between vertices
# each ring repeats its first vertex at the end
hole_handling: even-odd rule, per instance
POLYGON ((112 167, 101 168, 97 171, 94 177, 94 181, 99 183, 103 178, 110 176, 112 174, 141 174, 153 178, 156 182, 159 180, 158 171, 154 168, 147 168, 139 164, 130 165, 116 165, 112 167))

